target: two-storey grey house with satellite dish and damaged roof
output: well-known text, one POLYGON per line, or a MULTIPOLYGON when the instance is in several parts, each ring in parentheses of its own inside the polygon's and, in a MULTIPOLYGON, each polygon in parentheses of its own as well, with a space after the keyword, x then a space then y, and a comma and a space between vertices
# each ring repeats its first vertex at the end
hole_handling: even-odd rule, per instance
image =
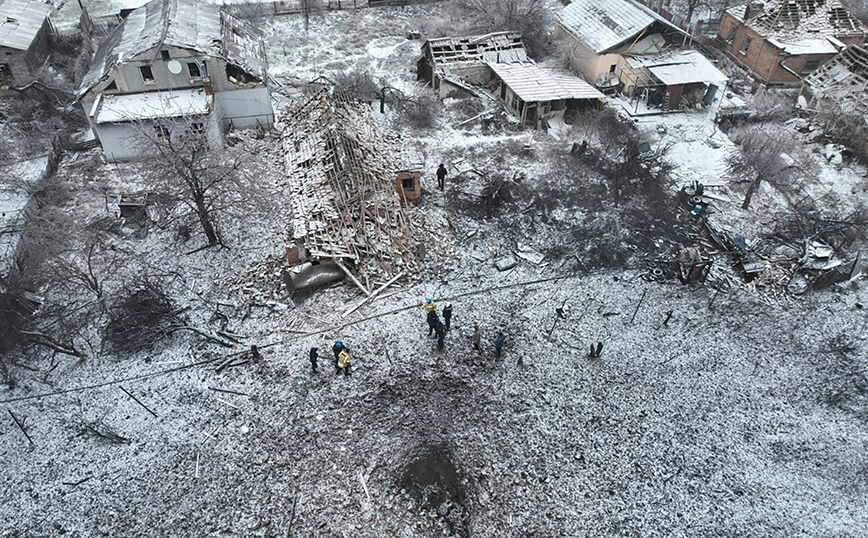
POLYGON ((100 44, 78 99, 109 160, 149 153, 142 137, 205 136, 274 123, 265 45, 198 0, 152 0, 100 44))

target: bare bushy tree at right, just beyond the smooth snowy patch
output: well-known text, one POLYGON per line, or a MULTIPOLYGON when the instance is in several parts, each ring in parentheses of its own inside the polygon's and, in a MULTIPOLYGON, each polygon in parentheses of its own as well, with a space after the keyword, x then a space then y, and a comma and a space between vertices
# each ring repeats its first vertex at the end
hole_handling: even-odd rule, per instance
POLYGON ((775 186, 792 184, 809 169, 810 163, 799 151, 793 133, 777 124, 741 127, 729 134, 739 150, 727 156, 727 172, 736 179, 749 181, 742 209, 750 207, 763 181, 775 186))

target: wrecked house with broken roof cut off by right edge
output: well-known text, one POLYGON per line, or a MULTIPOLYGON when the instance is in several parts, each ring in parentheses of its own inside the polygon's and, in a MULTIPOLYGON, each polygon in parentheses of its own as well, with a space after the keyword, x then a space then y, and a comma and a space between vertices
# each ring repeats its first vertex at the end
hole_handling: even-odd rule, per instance
POLYGON ((868 122, 868 51, 850 45, 805 77, 799 101, 810 109, 834 103, 868 122))

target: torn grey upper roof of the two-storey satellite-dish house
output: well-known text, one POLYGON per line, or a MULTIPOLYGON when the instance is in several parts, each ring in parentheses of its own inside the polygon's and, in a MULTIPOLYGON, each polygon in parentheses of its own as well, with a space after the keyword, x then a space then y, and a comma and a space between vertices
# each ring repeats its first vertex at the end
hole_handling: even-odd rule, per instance
POLYGON ((114 65, 162 46, 225 58, 265 78, 265 44, 255 28, 206 2, 152 0, 130 12, 100 44, 82 80, 79 96, 103 80, 114 65))

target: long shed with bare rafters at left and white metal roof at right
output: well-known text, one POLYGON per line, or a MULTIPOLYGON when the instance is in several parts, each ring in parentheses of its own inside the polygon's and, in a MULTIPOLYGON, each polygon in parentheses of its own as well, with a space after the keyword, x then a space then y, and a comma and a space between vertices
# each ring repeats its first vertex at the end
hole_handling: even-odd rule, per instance
POLYGON ((469 94, 500 101, 522 125, 535 129, 604 100, 581 78, 536 65, 521 34, 514 32, 429 39, 416 70, 416 78, 430 84, 441 99, 469 94))

